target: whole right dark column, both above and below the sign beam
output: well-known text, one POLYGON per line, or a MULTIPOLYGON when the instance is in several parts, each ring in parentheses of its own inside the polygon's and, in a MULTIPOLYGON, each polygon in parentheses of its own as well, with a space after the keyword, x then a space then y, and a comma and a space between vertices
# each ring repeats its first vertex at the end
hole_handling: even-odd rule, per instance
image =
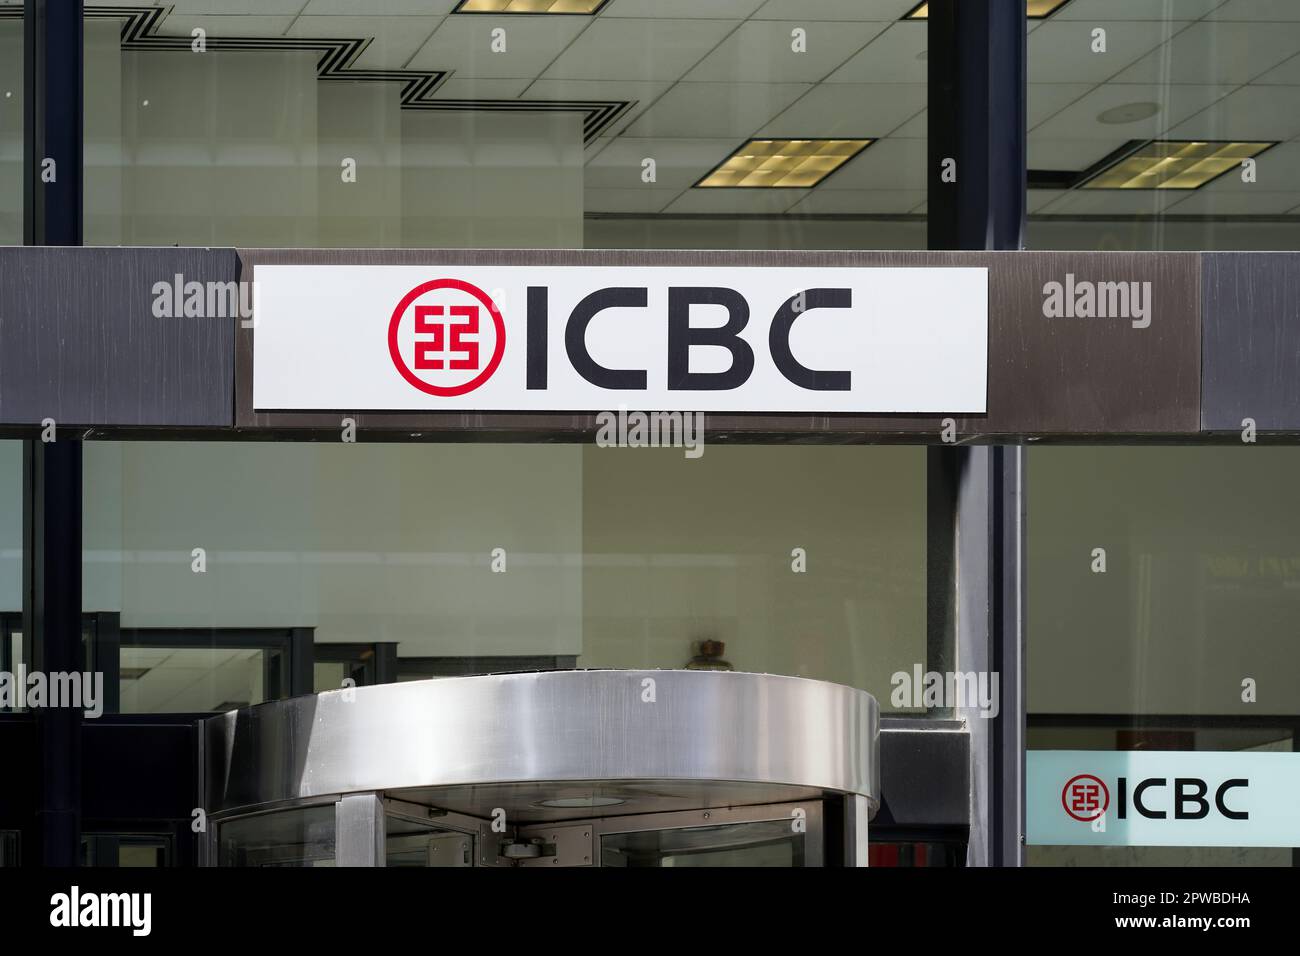
MULTIPOLYGON (((930 248, 1022 248, 1024 0, 931 0, 928 14, 930 248)), ((996 718, 959 714, 971 735, 966 858, 1017 866, 1024 832, 1024 449, 953 451, 958 460, 944 473, 957 470, 956 669, 996 674, 1000 691, 996 718)))

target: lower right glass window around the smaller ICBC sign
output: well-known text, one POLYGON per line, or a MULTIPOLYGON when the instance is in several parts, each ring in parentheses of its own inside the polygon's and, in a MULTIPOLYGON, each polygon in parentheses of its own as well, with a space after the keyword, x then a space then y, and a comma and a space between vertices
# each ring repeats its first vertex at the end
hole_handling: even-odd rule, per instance
MULTIPOLYGON (((1300 749, 1297 483, 1292 447, 1036 449, 1030 749, 1300 749)), ((1164 782, 1152 792, 1170 786, 1154 777, 1164 782)), ((1030 800, 1061 793, 1031 791, 1030 800)), ((1027 856, 1069 865, 1292 861, 1287 845, 1226 847, 1209 830, 1219 845, 1032 845, 1027 856)))

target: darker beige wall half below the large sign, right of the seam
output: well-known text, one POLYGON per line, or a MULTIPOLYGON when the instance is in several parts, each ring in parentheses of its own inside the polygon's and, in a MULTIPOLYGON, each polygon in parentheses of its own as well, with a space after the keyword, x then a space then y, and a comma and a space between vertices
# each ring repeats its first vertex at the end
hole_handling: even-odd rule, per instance
POLYGON ((926 662, 924 449, 592 446, 582 486, 580 666, 681 667, 718 639, 737 670, 888 708, 889 675, 926 662))

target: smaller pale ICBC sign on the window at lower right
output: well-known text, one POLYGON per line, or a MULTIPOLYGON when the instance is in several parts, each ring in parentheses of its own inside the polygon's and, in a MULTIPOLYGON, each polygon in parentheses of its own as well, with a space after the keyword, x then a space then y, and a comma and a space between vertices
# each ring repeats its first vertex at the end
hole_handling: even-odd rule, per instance
POLYGON ((1030 843, 1300 845, 1296 753, 1031 750, 1026 762, 1030 843))

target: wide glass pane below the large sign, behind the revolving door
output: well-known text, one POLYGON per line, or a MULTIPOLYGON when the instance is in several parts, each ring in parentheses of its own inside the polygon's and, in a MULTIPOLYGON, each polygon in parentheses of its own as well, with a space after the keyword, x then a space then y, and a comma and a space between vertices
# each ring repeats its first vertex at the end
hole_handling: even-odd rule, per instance
POLYGON ((395 641, 408 676, 734 669, 909 713, 892 675, 944 670, 922 447, 88 442, 84 467, 86 610, 121 617, 124 711, 281 696, 287 662, 230 643, 276 628, 324 658, 395 641))

